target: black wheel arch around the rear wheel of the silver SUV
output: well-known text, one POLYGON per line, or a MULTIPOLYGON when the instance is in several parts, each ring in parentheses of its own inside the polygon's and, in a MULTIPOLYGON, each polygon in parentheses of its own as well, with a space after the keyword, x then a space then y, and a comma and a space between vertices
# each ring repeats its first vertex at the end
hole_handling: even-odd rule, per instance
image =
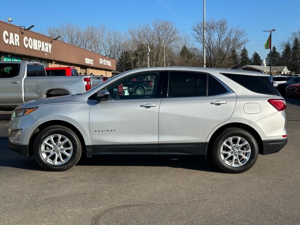
POLYGON ((255 129, 253 129, 252 127, 250 127, 247 124, 243 124, 243 123, 229 123, 229 124, 225 124, 223 126, 221 126, 220 128, 218 128, 214 134, 211 136, 211 138, 209 139, 208 142, 208 148, 207 148, 207 152, 206 154, 209 154, 209 152, 211 152, 211 149, 214 145, 214 141, 216 140, 216 138, 226 129, 226 128, 240 128, 240 129, 244 129, 245 131, 248 131, 250 134, 252 134, 252 136, 255 138, 257 145, 258 145, 258 149, 259 149, 259 154, 262 155, 263 153, 263 143, 262 143, 262 139, 259 136, 259 134, 257 133, 257 131, 255 129))

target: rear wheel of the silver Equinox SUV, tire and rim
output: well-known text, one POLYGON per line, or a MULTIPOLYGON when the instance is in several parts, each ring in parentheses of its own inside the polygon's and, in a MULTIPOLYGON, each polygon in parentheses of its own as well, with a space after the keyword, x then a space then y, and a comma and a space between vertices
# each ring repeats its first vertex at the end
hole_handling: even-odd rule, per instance
POLYGON ((217 137, 212 149, 214 163, 226 173, 244 173, 253 167, 257 157, 258 145, 255 138, 240 128, 225 129, 217 137))

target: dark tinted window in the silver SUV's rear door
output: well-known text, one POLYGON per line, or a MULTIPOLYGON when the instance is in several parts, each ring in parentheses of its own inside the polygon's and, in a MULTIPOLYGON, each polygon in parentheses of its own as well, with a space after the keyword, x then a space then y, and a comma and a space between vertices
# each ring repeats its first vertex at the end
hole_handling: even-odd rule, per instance
POLYGON ((206 73, 170 72, 169 98, 221 95, 226 92, 226 88, 217 79, 206 73))

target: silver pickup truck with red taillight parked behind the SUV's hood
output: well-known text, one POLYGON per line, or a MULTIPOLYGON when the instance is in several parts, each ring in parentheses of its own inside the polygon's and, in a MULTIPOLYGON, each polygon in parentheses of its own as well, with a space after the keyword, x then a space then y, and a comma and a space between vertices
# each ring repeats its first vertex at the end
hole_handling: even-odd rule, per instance
POLYGON ((46 76, 43 64, 0 61, 0 109, 12 109, 39 98, 83 93, 102 76, 46 76))

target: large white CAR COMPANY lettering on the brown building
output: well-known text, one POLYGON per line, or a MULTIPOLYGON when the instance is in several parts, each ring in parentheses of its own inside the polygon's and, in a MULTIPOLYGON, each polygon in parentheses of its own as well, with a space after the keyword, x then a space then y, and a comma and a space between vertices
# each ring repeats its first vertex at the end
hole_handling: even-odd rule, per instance
MULTIPOLYGON (((3 31, 3 41, 5 44, 20 46, 20 38, 19 35, 16 33, 8 33, 7 31, 3 31)), ((51 43, 40 41, 34 38, 28 38, 24 36, 23 45, 25 48, 51 53, 51 43)))

